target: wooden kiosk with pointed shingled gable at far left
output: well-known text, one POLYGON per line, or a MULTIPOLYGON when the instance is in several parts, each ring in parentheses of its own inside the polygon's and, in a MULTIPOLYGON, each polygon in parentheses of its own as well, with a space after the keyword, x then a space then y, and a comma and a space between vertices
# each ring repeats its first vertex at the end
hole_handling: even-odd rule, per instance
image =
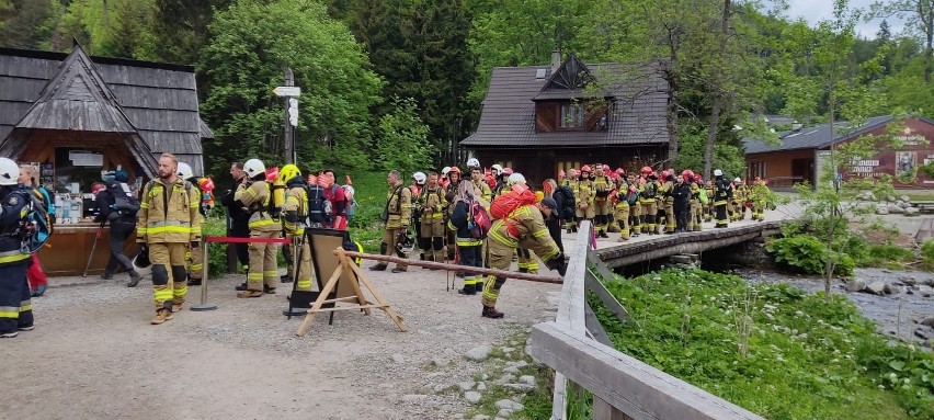
MULTIPOLYGON (((190 66, 92 59, 77 44, 67 55, 0 48, 0 156, 37 166, 55 195, 55 231, 39 251, 50 276, 81 275, 92 257, 90 189, 102 171, 126 170, 138 189, 171 152, 202 174, 202 139, 213 136, 190 66)), ((107 249, 104 232, 89 273, 103 271, 107 249)))

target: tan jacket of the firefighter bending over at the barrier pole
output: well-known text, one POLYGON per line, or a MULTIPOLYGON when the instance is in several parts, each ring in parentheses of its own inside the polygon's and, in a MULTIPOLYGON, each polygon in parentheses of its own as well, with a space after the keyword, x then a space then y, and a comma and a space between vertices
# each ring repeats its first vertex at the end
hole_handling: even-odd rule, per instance
POLYGON ((545 217, 531 204, 521 206, 509 216, 493 220, 487 238, 510 248, 531 249, 542 261, 558 257, 558 245, 551 239, 545 217))

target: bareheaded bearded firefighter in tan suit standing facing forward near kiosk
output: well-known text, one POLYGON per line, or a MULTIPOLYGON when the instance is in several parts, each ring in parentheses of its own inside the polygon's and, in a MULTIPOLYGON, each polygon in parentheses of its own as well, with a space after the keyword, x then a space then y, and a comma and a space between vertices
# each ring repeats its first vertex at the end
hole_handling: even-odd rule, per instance
POLYGON ((178 167, 178 158, 162 154, 159 178, 143 189, 136 223, 136 241, 148 249, 152 262, 153 325, 172 319, 172 313, 182 309, 189 290, 185 251, 189 246, 201 246, 201 194, 179 177, 178 167))

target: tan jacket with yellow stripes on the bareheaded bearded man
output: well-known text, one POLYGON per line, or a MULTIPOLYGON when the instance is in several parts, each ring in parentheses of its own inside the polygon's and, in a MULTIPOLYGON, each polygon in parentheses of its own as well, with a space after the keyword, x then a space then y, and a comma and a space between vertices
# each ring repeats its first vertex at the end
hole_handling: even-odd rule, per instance
POLYGON ((191 182, 156 179, 143 189, 136 237, 147 243, 187 243, 201 240, 201 192, 191 182))

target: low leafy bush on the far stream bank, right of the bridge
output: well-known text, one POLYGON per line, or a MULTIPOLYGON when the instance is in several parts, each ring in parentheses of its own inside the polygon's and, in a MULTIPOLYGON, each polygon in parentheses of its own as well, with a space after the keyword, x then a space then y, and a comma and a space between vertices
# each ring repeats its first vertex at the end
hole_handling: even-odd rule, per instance
POLYGON ((853 274, 856 262, 845 252, 829 252, 827 243, 810 235, 773 239, 765 246, 776 262, 795 272, 823 274, 828 256, 835 259, 836 272, 853 274))

